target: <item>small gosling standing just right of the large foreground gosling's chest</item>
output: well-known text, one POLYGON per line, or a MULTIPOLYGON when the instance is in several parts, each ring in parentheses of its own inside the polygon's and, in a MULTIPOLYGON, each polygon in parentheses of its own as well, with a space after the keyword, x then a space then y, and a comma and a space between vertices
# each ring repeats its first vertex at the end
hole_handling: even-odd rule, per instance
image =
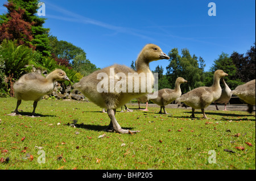
POLYGON ((178 77, 175 82, 175 89, 161 89, 158 91, 158 97, 155 99, 150 99, 153 103, 158 104, 160 106, 160 111, 159 113, 162 113, 162 108, 165 114, 166 112, 166 105, 170 104, 177 98, 181 96, 181 89, 180 85, 181 83, 188 82, 182 77, 178 77))

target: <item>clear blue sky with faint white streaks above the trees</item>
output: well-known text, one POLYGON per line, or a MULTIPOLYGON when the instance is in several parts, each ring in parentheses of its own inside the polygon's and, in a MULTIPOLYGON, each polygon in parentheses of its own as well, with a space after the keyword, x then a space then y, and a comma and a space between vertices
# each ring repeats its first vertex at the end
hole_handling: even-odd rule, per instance
MULTIPOLYGON (((6 12, 0 0, 0 14, 6 12)), ((254 0, 93 0, 42 1, 50 34, 81 47, 98 68, 118 63, 130 66, 147 43, 164 53, 187 48, 201 56, 209 70, 222 53, 246 53, 255 42, 254 0), (216 4, 216 16, 209 16, 208 3, 216 4)), ((151 70, 168 60, 150 64, 151 70)))

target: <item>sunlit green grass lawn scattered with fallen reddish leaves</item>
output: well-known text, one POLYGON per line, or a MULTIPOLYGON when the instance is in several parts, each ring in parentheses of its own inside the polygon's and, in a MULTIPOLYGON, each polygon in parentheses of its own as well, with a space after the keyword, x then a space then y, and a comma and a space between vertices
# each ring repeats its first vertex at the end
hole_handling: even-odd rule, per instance
MULTIPOLYGON (((131 135, 104 132, 110 119, 93 103, 42 100, 41 117, 6 116, 15 106, 0 98, 0 169, 255 169, 255 112, 206 111, 205 120, 184 108, 160 115, 159 107, 130 104, 133 112, 119 108, 115 116, 122 128, 141 131, 131 135)), ((31 113, 32 102, 19 109, 31 113)))

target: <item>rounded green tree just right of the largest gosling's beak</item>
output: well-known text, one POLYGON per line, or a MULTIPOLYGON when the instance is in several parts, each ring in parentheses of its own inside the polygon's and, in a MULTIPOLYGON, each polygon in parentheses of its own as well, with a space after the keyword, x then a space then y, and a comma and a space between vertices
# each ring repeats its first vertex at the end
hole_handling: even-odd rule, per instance
POLYGON ((171 84, 174 84, 177 77, 183 77, 188 81, 184 83, 183 92, 188 92, 196 87, 202 86, 201 75, 203 71, 199 68, 197 57, 189 53, 187 48, 181 49, 181 56, 177 48, 169 52, 170 64, 167 66, 167 78, 171 84))

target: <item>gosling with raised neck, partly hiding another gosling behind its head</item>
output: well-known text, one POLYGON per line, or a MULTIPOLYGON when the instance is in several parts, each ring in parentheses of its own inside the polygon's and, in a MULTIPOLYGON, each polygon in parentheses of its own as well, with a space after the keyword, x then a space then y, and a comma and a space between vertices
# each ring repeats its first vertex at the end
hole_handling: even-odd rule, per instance
POLYGON ((204 109, 208 107, 215 100, 221 96, 221 77, 228 76, 223 70, 216 70, 214 72, 213 85, 210 87, 198 87, 186 94, 180 96, 177 99, 178 102, 183 102, 192 107, 192 118, 195 118, 195 109, 201 109, 205 119, 208 117, 205 115, 204 109))

